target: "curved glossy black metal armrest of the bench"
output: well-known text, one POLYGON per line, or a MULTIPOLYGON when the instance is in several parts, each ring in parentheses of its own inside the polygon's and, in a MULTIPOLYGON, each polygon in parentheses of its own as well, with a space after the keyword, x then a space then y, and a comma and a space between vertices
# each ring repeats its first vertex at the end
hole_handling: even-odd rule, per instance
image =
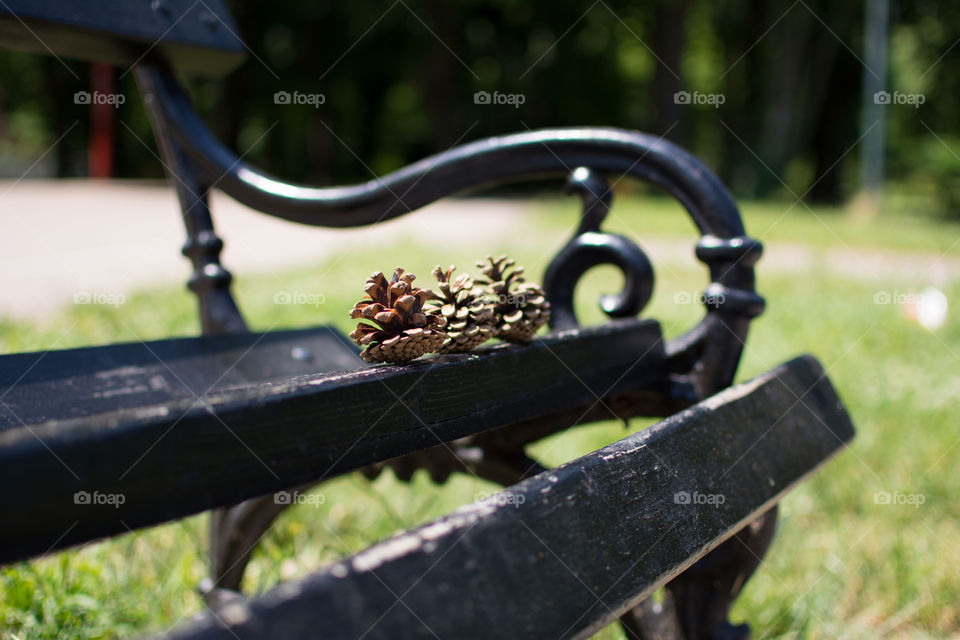
POLYGON ((478 140, 363 184, 316 188, 268 176, 229 151, 197 116, 171 74, 140 67, 137 75, 145 98, 160 110, 170 133, 207 180, 254 209, 294 222, 373 224, 468 189, 565 176, 589 167, 663 187, 680 199, 704 234, 743 234, 737 207, 720 181, 662 138, 608 128, 530 131, 478 140))

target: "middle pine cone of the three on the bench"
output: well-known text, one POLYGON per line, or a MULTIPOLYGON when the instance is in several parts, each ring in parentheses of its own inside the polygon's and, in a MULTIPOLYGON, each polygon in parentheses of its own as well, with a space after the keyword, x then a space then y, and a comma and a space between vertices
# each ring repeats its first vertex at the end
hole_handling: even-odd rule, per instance
POLYGON ((438 314, 446 320, 444 332, 447 340, 439 353, 464 353, 477 347, 496 334, 496 317, 493 309, 484 303, 483 290, 473 284, 469 275, 463 273, 451 281, 455 266, 445 272, 437 265, 433 276, 441 295, 433 294, 423 309, 428 314, 438 314))

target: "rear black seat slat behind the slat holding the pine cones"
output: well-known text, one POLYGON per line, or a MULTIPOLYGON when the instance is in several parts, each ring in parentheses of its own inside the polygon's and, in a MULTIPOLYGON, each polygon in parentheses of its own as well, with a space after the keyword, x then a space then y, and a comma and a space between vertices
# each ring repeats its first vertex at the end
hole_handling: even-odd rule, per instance
POLYGON ((352 371, 365 366, 357 353, 319 327, 0 356, 0 431, 352 371))

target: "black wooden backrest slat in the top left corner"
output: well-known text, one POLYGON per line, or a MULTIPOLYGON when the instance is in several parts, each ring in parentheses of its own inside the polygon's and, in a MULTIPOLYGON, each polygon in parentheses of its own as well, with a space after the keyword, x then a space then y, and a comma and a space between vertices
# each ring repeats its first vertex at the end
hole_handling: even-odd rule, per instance
POLYGON ((222 0, 5 0, 0 45, 122 67, 159 58, 208 76, 246 56, 222 0))

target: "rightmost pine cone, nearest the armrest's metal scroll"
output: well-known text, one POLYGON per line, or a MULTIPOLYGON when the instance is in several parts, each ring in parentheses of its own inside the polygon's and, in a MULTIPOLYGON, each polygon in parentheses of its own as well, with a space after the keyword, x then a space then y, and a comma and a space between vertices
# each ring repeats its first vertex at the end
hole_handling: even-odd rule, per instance
POLYGON ((507 342, 529 342, 550 320, 550 303, 543 289, 524 281, 523 267, 509 271, 513 264, 507 256, 496 260, 487 256, 487 262, 477 263, 485 277, 476 282, 484 285, 487 305, 496 316, 497 337, 507 342))

